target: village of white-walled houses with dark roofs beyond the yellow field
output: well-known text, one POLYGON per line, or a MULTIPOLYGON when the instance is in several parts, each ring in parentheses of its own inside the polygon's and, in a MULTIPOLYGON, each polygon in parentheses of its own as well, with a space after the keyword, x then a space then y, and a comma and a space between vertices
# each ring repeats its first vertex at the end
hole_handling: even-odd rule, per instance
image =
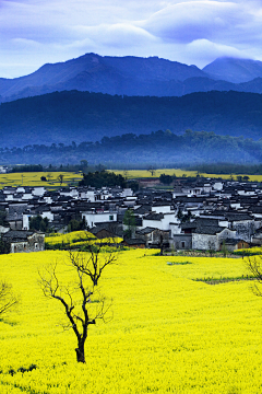
POLYGON ((120 236, 131 247, 221 251, 262 245, 262 189, 259 183, 199 177, 172 190, 142 188, 9 187, 0 192, 0 232, 10 252, 45 248, 45 233, 32 218, 47 218, 48 231, 66 233, 84 222, 98 239, 120 236), (129 222, 127 211, 133 221, 129 222))

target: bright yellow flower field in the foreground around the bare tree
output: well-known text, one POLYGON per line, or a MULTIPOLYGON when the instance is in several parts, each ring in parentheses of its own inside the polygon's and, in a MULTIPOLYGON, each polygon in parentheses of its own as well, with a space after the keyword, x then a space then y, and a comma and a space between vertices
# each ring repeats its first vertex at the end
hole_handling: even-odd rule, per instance
POLYGON ((86 364, 60 304, 37 283, 38 268, 67 252, 1 255, 21 303, 0 322, 0 393, 261 393, 262 299, 250 281, 193 280, 240 277, 243 260, 153 253, 119 252, 102 277, 114 317, 91 326, 86 364))

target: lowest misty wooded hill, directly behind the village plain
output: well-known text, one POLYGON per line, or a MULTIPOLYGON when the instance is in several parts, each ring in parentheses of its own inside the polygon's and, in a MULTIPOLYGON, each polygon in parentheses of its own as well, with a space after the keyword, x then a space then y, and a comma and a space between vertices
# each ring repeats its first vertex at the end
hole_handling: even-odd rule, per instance
POLYGON ((150 135, 126 134, 104 137, 96 142, 29 144, 24 148, 0 148, 1 163, 43 163, 67 165, 80 161, 106 164, 110 167, 174 166, 179 163, 259 163, 262 161, 262 140, 217 136, 214 132, 187 130, 182 136, 170 130, 150 135))

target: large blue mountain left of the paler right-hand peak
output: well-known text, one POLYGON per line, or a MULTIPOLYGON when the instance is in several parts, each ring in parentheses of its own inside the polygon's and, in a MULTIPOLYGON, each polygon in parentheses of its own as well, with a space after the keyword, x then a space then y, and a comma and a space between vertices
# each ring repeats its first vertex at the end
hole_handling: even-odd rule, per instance
POLYGON ((160 82, 183 81, 193 77, 207 76, 195 66, 158 57, 102 57, 86 54, 66 62, 47 63, 29 76, 13 80, 0 79, 0 95, 4 101, 32 93, 35 95, 73 89, 128 95, 136 91, 145 95, 151 85, 156 90, 160 82))

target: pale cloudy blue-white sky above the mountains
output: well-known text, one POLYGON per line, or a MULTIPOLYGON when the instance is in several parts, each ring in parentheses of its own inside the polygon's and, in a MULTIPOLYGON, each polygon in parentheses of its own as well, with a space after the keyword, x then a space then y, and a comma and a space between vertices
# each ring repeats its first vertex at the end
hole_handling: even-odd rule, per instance
POLYGON ((262 60, 262 0, 0 0, 0 77, 102 56, 262 60))

